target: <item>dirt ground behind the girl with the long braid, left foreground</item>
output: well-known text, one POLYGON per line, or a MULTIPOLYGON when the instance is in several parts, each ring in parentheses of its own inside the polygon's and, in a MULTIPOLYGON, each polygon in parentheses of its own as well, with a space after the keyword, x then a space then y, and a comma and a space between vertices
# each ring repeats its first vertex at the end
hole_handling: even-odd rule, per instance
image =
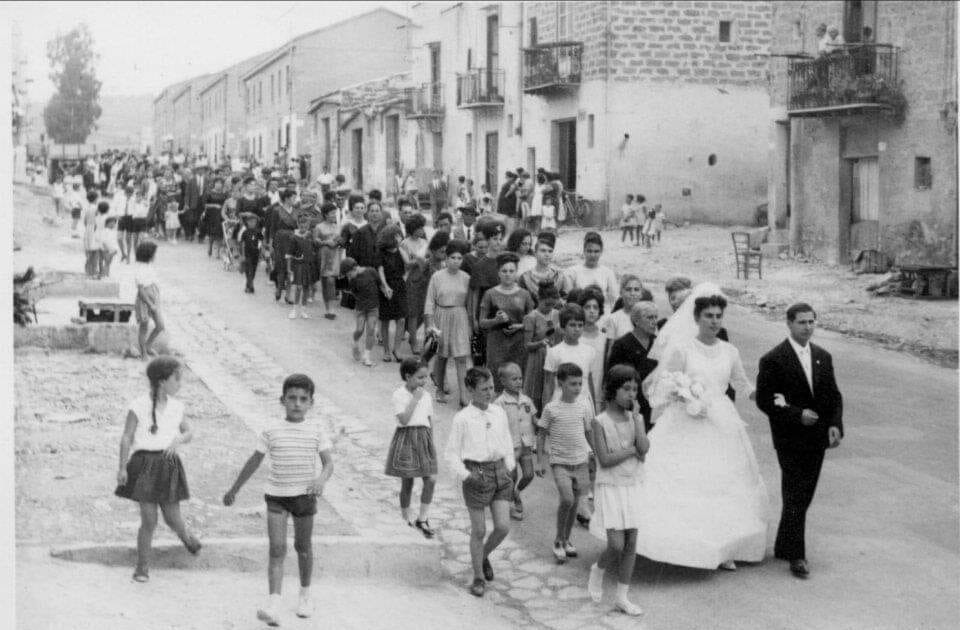
MULTIPOLYGON (((55 545, 136 538, 134 503, 113 494, 124 405, 147 391, 137 359, 81 352, 18 349, 16 356, 16 532, 20 542, 55 545), (92 386, 95 385, 95 386, 92 386), (92 479, 93 478, 93 479, 92 479)), ((230 415, 190 370, 183 400, 196 439, 183 447, 191 498, 182 510, 201 538, 261 536, 261 466, 237 498, 220 499, 254 449, 253 433, 230 415)), ((319 511, 330 534, 350 534, 332 509, 319 511)), ((319 526, 318 526, 319 527, 319 526)), ((170 536, 165 529, 160 536, 170 536)))

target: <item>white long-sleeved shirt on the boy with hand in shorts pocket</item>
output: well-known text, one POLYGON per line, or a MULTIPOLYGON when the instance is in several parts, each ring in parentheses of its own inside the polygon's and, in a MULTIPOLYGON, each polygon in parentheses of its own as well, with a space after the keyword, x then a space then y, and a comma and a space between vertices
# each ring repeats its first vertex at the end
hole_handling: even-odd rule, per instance
POLYGON ((453 416, 453 425, 447 438, 447 462, 459 479, 466 479, 470 471, 464 460, 495 462, 502 459, 507 470, 513 470, 513 437, 507 413, 498 405, 480 409, 467 405, 453 416))

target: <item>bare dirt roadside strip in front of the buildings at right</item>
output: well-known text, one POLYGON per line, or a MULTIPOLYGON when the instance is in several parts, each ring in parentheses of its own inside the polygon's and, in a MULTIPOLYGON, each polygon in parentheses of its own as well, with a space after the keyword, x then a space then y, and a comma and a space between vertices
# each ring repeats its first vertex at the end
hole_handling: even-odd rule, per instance
MULTIPOLYGON (((635 273, 662 291, 662 283, 683 275, 694 283, 713 281, 736 303, 780 321, 795 302, 817 309, 820 326, 884 347, 910 352, 946 367, 957 367, 958 305, 956 300, 914 300, 874 297, 865 290, 880 277, 856 275, 848 266, 830 266, 765 257, 763 279, 736 279, 730 233, 736 227, 669 226, 651 249, 620 242, 619 230, 602 233, 603 263, 617 273, 635 273)), ((564 231, 557 261, 579 258, 585 230, 564 231)))

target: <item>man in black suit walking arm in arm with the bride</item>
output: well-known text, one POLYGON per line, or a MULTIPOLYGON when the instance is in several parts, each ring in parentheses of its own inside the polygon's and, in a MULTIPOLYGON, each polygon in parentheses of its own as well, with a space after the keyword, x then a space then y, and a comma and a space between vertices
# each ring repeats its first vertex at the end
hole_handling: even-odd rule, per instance
POLYGON ((810 574, 804 526, 824 452, 843 439, 843 398, 830 353, 810 343, 816 321, 809 304, 787 309, 790 336, 763 355, 757 374, 757 406, 770 419, 782 472, 783 512, 774 555, 788 560, 800 578, 810 574))

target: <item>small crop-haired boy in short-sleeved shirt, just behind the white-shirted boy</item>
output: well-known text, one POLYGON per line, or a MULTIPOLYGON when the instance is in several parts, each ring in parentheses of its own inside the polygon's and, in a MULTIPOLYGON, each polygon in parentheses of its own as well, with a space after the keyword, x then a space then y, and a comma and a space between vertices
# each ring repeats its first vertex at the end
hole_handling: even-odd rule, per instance
POLYGON ((517 486, 513 493, 513 505, 510 506, 510 518, 522 521, 523 502, 520 500, 520 491, 533 481, 533 447, 536 444, 533 415, 537 412, 537 408, 533 401, 520 391, 523 386, 523 373, 519 365, 502 363, 499 372, 503 392, 493 403, 500 405, 507 414, 510 437, 513 438, 513 456, 517 462, 517 467, 513 471, 517 486))

